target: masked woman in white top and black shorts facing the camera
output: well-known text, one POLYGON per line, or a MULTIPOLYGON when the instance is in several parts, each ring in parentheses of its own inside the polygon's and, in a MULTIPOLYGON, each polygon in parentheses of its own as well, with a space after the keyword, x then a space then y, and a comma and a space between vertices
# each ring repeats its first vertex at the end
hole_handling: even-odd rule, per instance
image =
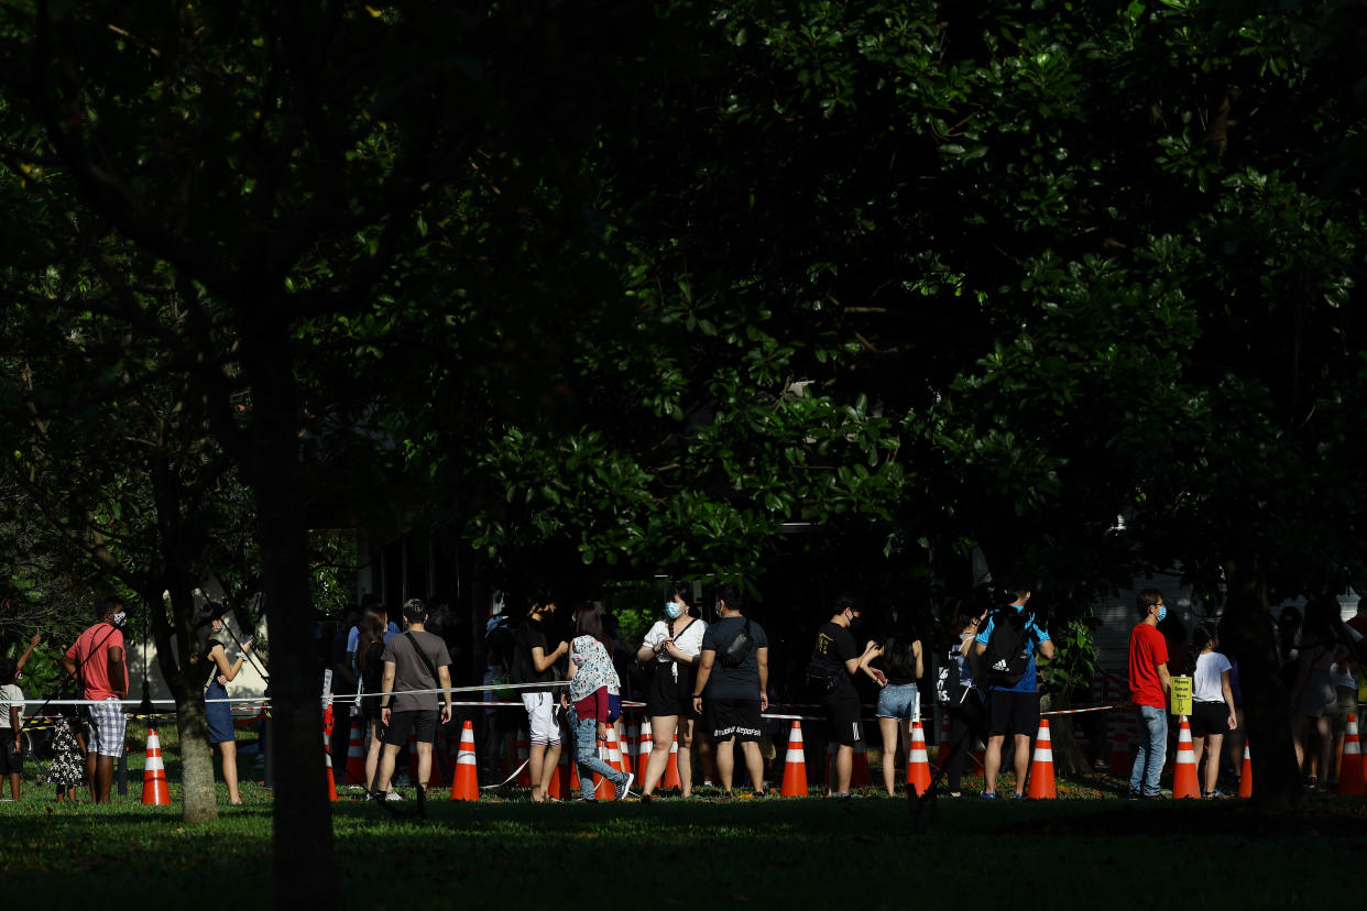
POLYGON ((707 624, 689 615, 684 591, 675 586, 664 604, 664 620, 651 627, 636 660, 651 665, 645 710, 651 716, 651 757, 641 776, 641 800, 649 803, 670 761, 678 732, 679 794, 693 794, 693 672, 703 654, 707 624))

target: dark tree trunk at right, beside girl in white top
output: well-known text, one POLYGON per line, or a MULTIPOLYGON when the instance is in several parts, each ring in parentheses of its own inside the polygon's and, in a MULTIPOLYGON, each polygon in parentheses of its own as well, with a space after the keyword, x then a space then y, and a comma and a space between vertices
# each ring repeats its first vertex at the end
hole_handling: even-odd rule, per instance
POLYGON ((1239 661, 1254 766, 1254 806, 1290 813, 1304 803, 1304 792, 1290 736, 1289 694, 1277 667, 1267 586, 1256 560, 1226 561, 1225 580, 1229 586, 1225 635, 1239 661))

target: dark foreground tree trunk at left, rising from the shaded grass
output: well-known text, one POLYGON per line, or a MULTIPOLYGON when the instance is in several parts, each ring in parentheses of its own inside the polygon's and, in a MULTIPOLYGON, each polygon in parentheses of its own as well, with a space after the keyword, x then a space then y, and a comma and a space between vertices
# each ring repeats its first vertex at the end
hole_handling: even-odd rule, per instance
POLYGON ((243 307, 243 366, 252 384, 247 485, 257 509, 271 661, 275 750, 273 904, 338 904, 313 641, 309 541, 299 483, 299 408, 288 326, 269 307, 243 307))

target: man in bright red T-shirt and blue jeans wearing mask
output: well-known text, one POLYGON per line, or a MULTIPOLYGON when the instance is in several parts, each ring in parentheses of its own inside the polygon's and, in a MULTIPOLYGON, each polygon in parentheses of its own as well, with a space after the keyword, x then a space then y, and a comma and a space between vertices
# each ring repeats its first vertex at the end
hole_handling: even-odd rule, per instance
POLYGON ((1158 776, 1167 755, 1167 694, 1173 688, 1167 675, 1167 641, 1158 624, 1167 616, 1163 593, 1144 589, 1136 598, 1143 617, 1129 634, 1129 698, 1139 706, 1141 731, 1135 753, 1135 770, 1129 776, 1129 798, 1156 798, 1158 776))

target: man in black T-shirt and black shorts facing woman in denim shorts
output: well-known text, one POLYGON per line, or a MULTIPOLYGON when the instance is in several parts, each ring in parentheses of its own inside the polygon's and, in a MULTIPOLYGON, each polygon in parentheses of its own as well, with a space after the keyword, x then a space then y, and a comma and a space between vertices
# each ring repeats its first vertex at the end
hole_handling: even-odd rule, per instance
POLYGON ((816 646, 807 665, 807 677, 812 683, 830 725, 830 739, 839 746, 835 750, 835 781, 827 776, 827 795, 838 798, 850 795, 850 768, 854 761, 854 743, 861 739, 858 729, 858 691, 854 690, 854 675, 867 673, 879 686, 887 679, 883 672, 871 668, 874 642, 860 653, 850 630, 858 624, 860 606, 849 594, 835 598, 835 613, 816 631, 816 646))

